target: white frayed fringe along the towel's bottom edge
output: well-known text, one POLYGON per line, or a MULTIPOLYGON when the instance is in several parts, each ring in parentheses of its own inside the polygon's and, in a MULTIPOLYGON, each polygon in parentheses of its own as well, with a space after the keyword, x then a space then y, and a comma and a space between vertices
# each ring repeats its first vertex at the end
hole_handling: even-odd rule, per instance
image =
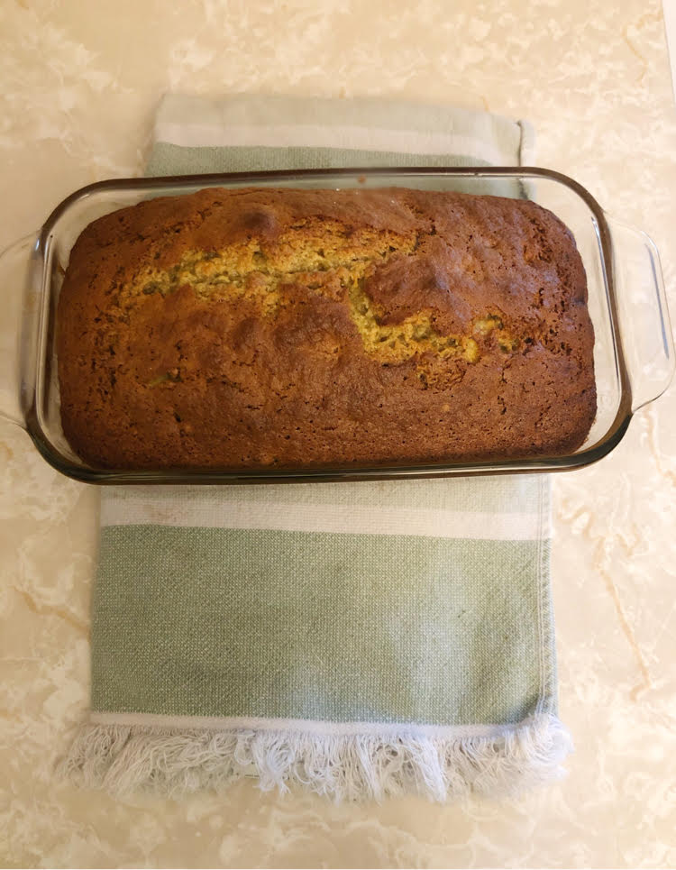
POLYGON ((335 801, 380 801, 419 794, 448 801, 471 792, 514 795, 565 773, 571 737, 550 714, 490 737, 397 734, 322 735, 275 730, 205 730, 83 725, 59 773, 84 788, 116 795, 169 797, 223 791, 242 777, 260 789, 301 786, 335 801))

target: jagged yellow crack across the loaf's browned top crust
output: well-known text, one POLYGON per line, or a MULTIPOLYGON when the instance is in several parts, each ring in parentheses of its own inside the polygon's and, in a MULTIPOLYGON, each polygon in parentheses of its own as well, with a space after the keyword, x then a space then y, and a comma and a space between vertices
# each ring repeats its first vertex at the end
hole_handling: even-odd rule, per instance
POLYGON ((207 303, 237 305, 246 299, 255 301, 261 316, 274 317, 285 307, 285 287, 298 284, 317 296, 331 296, 337 279, 341 288, 347 289, 344 298, 365 352, 383 364, 397 365, 428 352, 442 359, 458 356, 477 362, 480 348, 472 333, 485 336, 496 328, 505 353, 518 347, 519 339, 503 328, 499 315, 490 312, 472 321, 470 334, 441 334, 434 328, 430 310, 407 316, 397 324, 384 324, 382 306, 364 291, 364 278, 374 264, 386 263, 393 253, 413 256, 420 236, 411 240, 361 232, 352 236, 348 246, 342 225, 324 224, 321 229, 321 234, 309 238, 300 229, 285 234, 278 243, 283 254, 276 258, 251 241, 209 254, 189 251, 170 270, 145 266, 120 290, 116 305, 126 315, 141 296, 159 293, 167 297, 187 286, 207 303))

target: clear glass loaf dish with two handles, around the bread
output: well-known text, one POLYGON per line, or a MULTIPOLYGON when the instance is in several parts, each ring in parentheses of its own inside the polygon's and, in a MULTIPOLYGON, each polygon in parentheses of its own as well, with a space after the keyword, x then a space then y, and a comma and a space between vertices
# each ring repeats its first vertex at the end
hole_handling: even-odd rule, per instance
POLYGON ((391 479, 473 473, 553 472, 580 468, 609 453, 637 408, 659 397, 673 372, 673 343, 657 249, 644 233, 615 219, 575 181, 548 169, 311 169, 102 181, 82 188, 51 213, 37 236, 0 259, 8 298, 0 341, 0 408, 23 426, 59 472, 90 483, 229 483, 391 479), (598 413, 586 442, 565 456, 415 467, 291 470, 180 468, 115 471, 93 468, 70 449, 60 426, 55 317, 69 252, 101 215, 148 197, 201 188, 381 188, 461 190, 528 197, 551 209, 575 236, 587 271, 596 341, 598 413))

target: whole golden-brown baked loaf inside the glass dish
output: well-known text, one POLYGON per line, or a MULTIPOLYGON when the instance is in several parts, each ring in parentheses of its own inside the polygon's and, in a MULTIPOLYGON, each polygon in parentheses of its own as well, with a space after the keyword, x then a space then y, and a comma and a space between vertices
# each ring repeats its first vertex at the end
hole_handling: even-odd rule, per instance
POLYGON ((96 466, 568 453, 596 413, 585 273, 526 200, 208 189, 90 224, 59 298, 65 435, 96 466))

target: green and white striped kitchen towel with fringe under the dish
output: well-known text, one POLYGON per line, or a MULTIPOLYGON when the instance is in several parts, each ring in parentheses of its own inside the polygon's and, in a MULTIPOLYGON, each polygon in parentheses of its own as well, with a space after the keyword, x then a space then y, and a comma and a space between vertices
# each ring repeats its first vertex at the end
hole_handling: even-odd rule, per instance
MULTIPOLYGON (((513 166, 532 142, 452 108, 175 95, 156 139, 157 175, 513 166)), ((251 776, 339 800, 551 781, 571 741, 549 545, 544 475, 105 488, 91 710, 61 770, 117 793, 251 776)))

